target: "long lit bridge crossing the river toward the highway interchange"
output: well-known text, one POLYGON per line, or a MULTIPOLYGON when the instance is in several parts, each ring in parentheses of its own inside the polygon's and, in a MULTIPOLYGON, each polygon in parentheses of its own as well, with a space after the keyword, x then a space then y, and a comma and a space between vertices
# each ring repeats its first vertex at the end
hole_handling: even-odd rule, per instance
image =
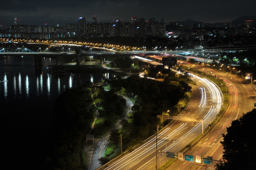
POLYGON ((80 65, 84 62, 84 57, 86 56, 93 56, 99 57, 99 64, 103 64, 104 57, 111 57, 111 56, 120 56, 120 57, 131 57, 131 56, 139 56, 143 58, 155 58, 158 62, 161 62, 162 57, 182 57, 187 59, 194 59, 198 62, 212 62, 215 60, 219 62, 219 55, 221 53, 216 52, 209 52, 206 54, 204 51, 198 50, 191 50, 191 51, 82 51, 77 54, 75 51, 59 51, 59 52, 52 52, 52 51, 44 51, 42 52, 41 49, 39 51, 33 51, 27 49, 25 47, 12 47, 10 50, 5 50, 4 48, 0 50, 0 56, 33 56, 35 57, 35 66, 41 66, 41 58, 42 57, 55 57, 57 61, 57 65, 63 64, 63 57, 71 57, 80 65), (195 57, 196 56, 196 57, 195 57))

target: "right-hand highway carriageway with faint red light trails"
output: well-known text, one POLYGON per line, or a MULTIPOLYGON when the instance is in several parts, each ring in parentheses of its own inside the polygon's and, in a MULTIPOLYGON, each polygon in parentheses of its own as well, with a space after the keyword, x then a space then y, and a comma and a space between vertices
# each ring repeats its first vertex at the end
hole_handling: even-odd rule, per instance
MULTIPOLYGON (((256 90, 248 81, 238 78, 236 75, 227 75, 216 70, 207 69, 207 72, 215 72, 219 77, 223 78, 229 92, 229 104, 222 119, 211 129, 211 131, 200 140, 196 146, 186 152, 187 155, 200 155, 201 158, 212 157, 212 165, 196 163, 195 161, 178 160, 169 170, 199 170, 199 169, 215 169, 218 160, 222 159, 223 146, 220 143, 222 134, 226 133, 226 128, 231 125, 233 120, 242 116, 242 113, 251 111, 256 103, 256 90)), ((195 160, 195 159, 194 159, 195 160)))

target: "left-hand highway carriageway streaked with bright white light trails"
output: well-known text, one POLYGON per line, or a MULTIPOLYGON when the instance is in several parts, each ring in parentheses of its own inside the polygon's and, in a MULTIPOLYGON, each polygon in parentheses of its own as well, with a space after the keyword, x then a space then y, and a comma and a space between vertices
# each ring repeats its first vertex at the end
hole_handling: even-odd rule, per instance
POLYGON ((208 124, 215 119, 221 109, 222 93, 204 77, 195 76, 195 81, 197 85, 192 85, 191 104, 179 116, 203 119, 204 127, 202 122, 173 120, 171 125, 167 125, 152 138, 145 140, 144 144, 131 153, 108 167, 99 169, 156 169, 166 162, 166 156, 159 157, 159 151, 178 152, 202 132, 202 127, 208 128, 208 124))

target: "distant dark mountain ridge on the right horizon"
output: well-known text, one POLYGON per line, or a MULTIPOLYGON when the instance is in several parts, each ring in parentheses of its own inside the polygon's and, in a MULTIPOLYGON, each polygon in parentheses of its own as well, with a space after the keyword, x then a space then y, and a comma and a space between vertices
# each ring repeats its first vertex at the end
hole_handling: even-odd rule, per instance
MULTIPOLYGON (((237 26, 244 24, 245 20, 253 20, 253 26, 256 26, 256 16, 242 16, 242 17, 237 18, 230 22, 232 22, 233 27, 237 27, 237 26)), ((192 19, 187 19, 185 21, 180 22, 181 25, 187 26, 187 27, 194 27, 194 23, 201 23, 201 22, 195 21, 192 19)), ((221 26, 221 22, 214 23, 214 24, 204 23, 204 26, 219 27, 219 26, 221 26)))

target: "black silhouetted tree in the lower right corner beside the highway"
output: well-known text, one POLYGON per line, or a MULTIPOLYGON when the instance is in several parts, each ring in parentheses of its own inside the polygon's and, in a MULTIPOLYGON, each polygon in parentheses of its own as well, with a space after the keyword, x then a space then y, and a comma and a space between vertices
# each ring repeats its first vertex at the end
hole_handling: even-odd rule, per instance
POLYGON ((227 128, 227 133, 222 134, 223 160, 218 163, 218 170, 244 170, 255 169, 255 143, 254 135, 256 109, 243 114, 237 120, 232 121, 227 128), (245 158, 242 161, 242 158, 245 158))

